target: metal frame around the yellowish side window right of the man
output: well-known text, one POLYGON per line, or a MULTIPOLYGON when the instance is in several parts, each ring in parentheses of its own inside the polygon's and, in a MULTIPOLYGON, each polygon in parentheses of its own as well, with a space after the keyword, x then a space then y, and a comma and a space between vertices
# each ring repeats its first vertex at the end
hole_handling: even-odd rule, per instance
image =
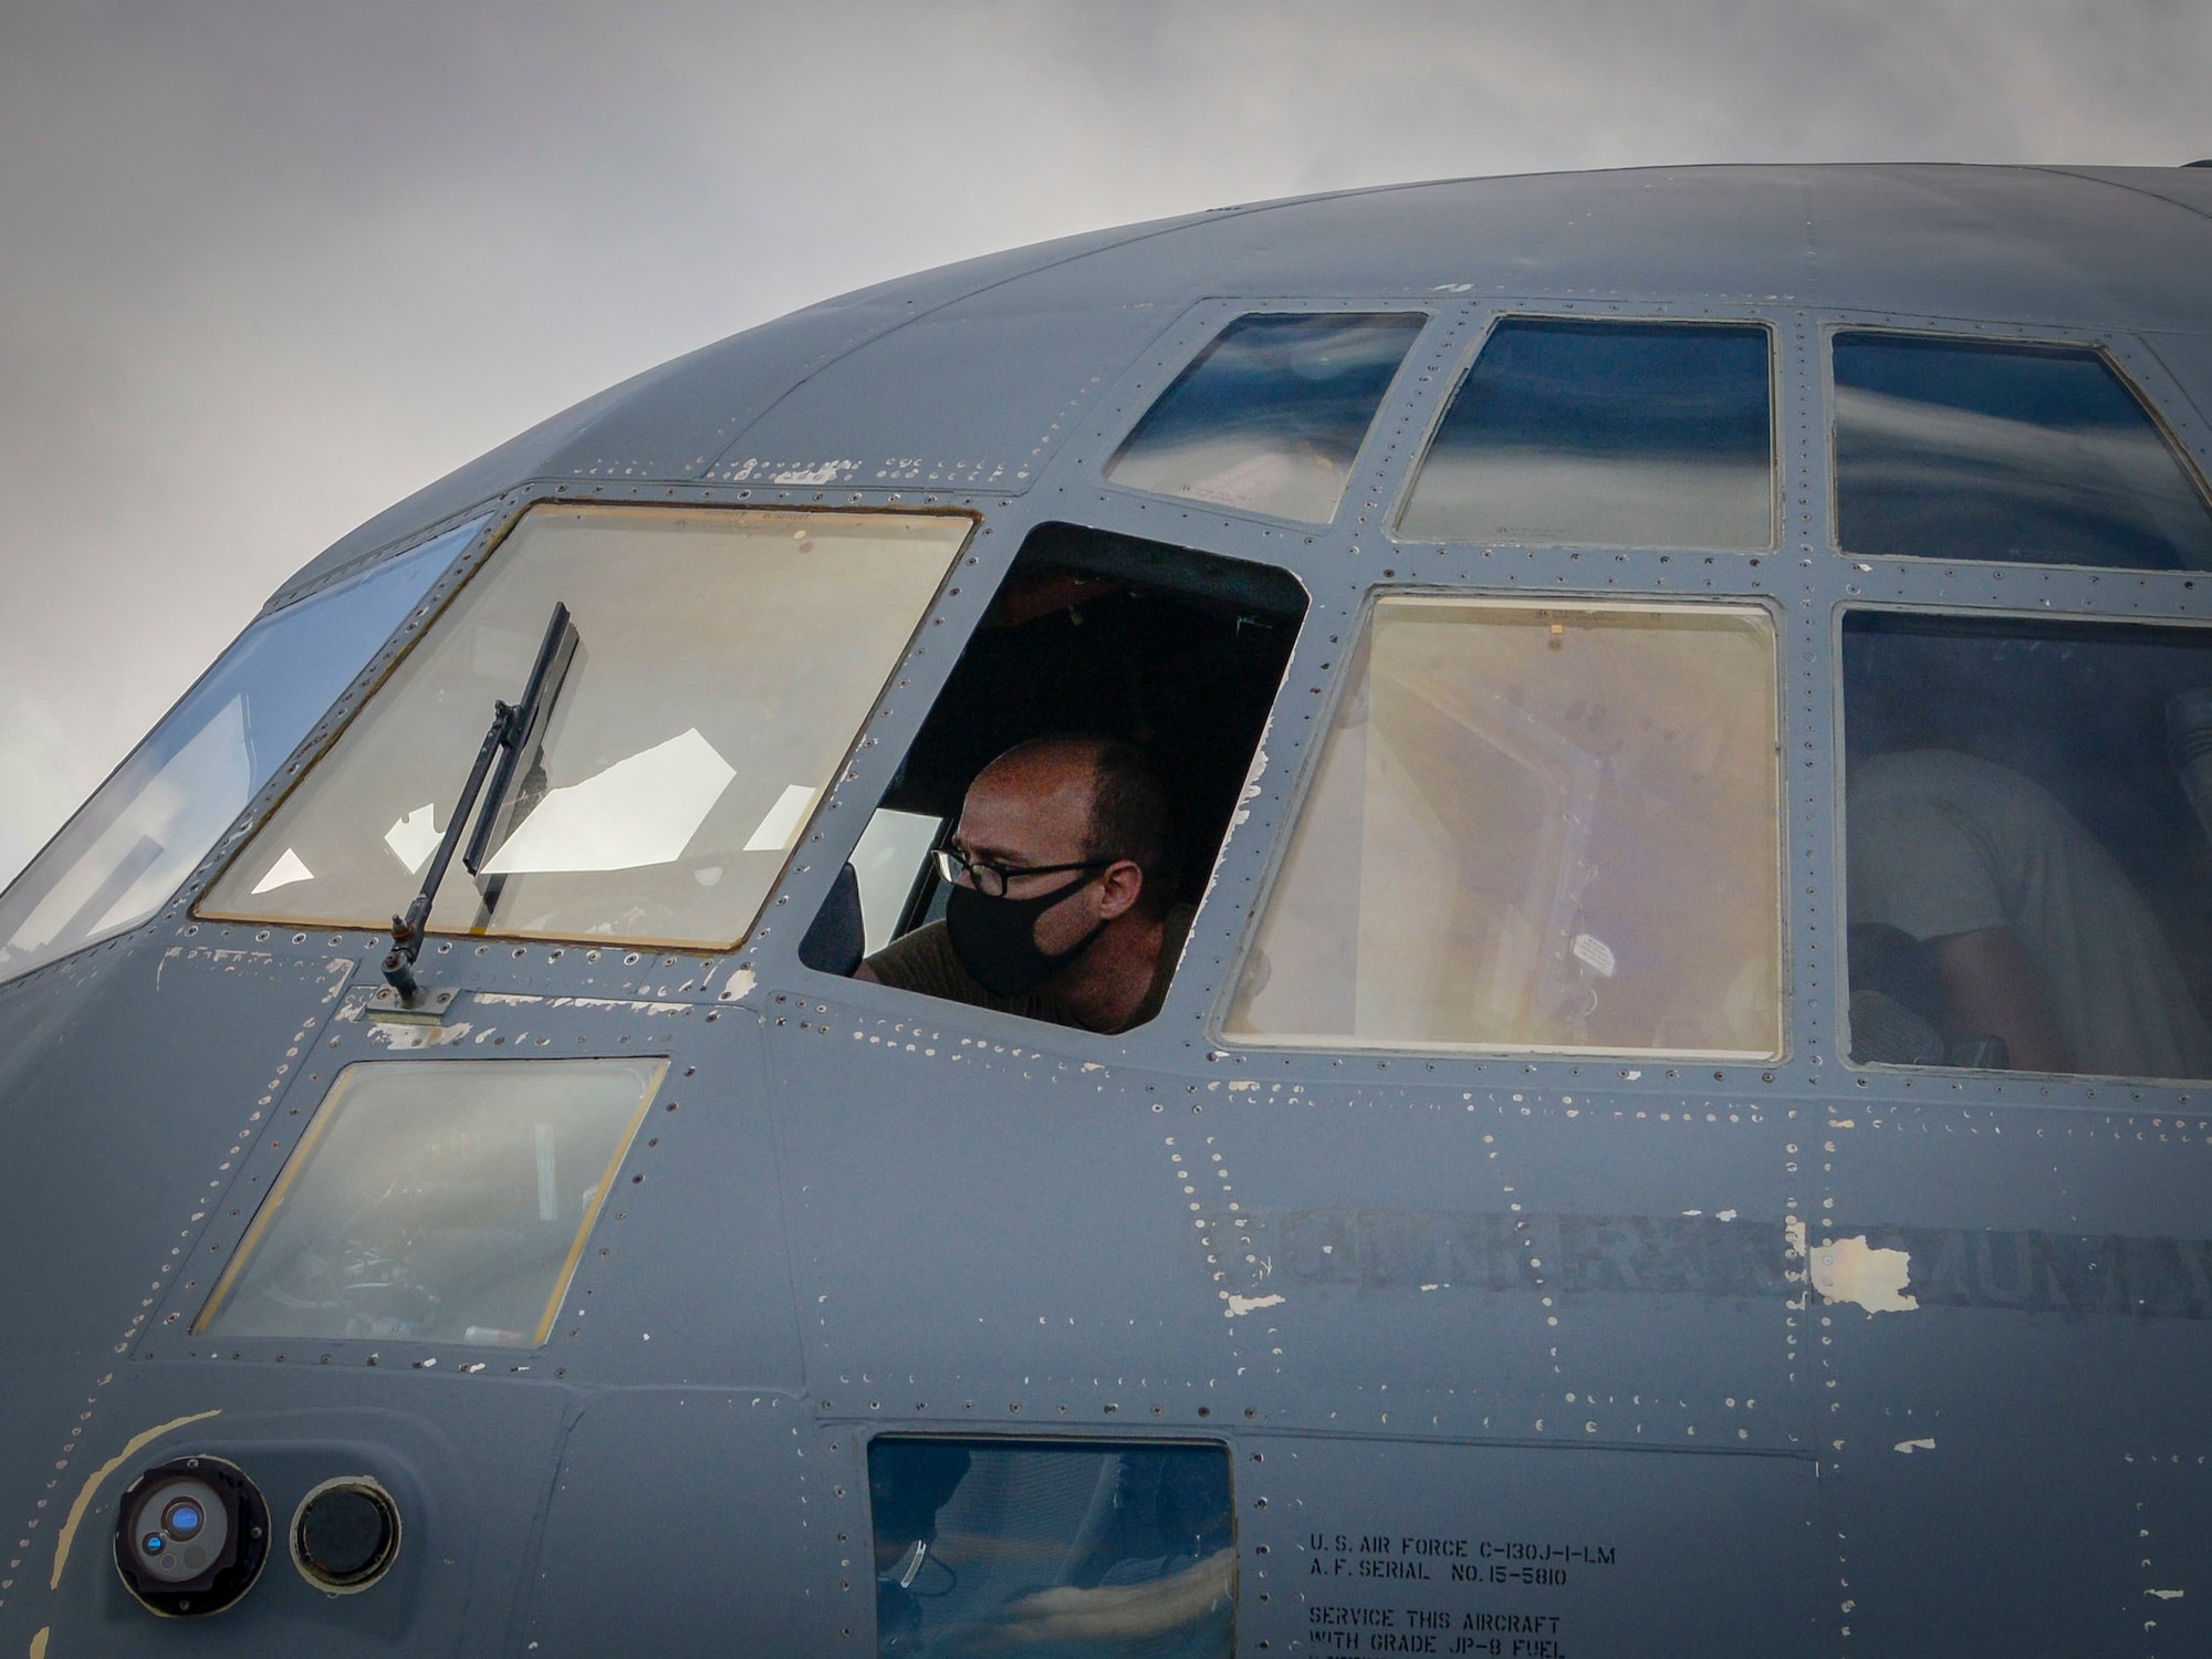
MULTIPOLYGON (((1327 622, 1323 615, 1307 613, 1307 628, 1327 622)), ((1303 644, 1303 639, 1301 639, 1303 644)), ((1334 668, 1329 668, 1329 679, 1325 681, 1325 695, 1321 706, 1312 710, 1312 734, 1296 759, 1296 774, 1283 792, 1283 807, 1267 825, 1270 843, 1265 863, 1259 878, 1252 883, 1252 896, 1245 900, 1243 916, 1237 918, 1237 931, 1228 942, 1223 956, 1221 982, 1214 987, 1212 1002, 1206 1011, 1206 1040, 1212 1048, 1234 1055, 1256 1055, 1285 1062, 1298 1060, 1427 1060, 1427 1062, 1464 1062, 1482 1064, 1489 1060, 1513 1060, 1537 1064, 1559 1064, 1577 1066, 1584 1062, 1615 1062, 1624 1060, 1628 1064, 1641 1066, 1668 1066, 1668 1064, 1712 1064, 1712 1066, 1743 1066, 1752 1071, 1785 1066, 1794 1060, 1798 1051, 1796 1031, 1796 975, 1794 975, 1794 942, 1798 931, 1796 907, 1792 905, 1790 891, 1790 812, 1792 812, 1792 790, 1790 772, 1783 763, 1787 737, 1790 737, 1790 608, 1772 593, 1743 591, 1743 593, 1681 593, 1661 595, 1646 591, 1588 591, 1588 588, 1562 588, 1557 593, 1520 593, 1500 588, 1478 588, 1464 584, 1440 584, 1440 582, 1389 582, 1371 584, 1363 595, 1358 606, 1345 617, 1343 644, 1332 646, 1336 653, 1334 668), (1259 947, 1261 922, 1274 905, 1276 887, 1283 880, 1283 869, 1290 860, 1290 845, 1305 821, 1305 812, 1312 803, 1314 787, 1321 776, 1321 761, 1329 748, 1329 734, 1336 730, 1336 714, 1343 708, 1345 697, 1352 695, 1352 675, 1347 664, 1369 644, 1374 630, 1376 608, 1385 599, 1458 599, 1473 606, 1513 606, 1513 608, 1544 608, 1544 606, 1590 606, 1590 608, 1644 608, 1644 611, 1677 611, 1677 608, 1754 608, 1765 613, 1770 622, 1770 641, 1774 653, 1774 1000, 1776 1000, 1776 1053, 1770 1057, 1703 1057, 1686 1055, 1681 1062, 1655 1060, 1650 1053, 1615 1051, 1615 1048, 1535 1048, 1535 1046, 1504 1046, 1504 1044, 1460 1044, 1460 1042, 1356 1042, 1347 1035, 1329 1035, 1303 1042, 1263 1042, 1250 1035, 1237 1035, 1228 1031, 1230 1006, 1237 1002, 1237 991, 1243 984, 1245 964, 1252 951, 1259 947)), ((1292 655, 1292 668, 1296 668, 1296 653, 1292 655)), ((1840 672, 1840 670, 1838 670, 1840 672)), ((1296 679, 1292 672, 1285 677, 1287 688, 1296 679)), ((1272 719, 1283 719, 1287 714, 1283 701, 1276 703, 1272 719)), ((1840 721, 1840 703, 1838 703, 1840 721)), ((1838 750, 1838 765, 1840 750, 1838 750)), ((1840 821, 1840 816, 1838 816, 1840 821)), ((1230 841, 1234 841, 1234 827, 1230 830, 1230 841)), ((1838 832, 1840 834, 1840 832, 1838 832)), ((1228 843, 1223 843, 1225 847, 1228 843)), ((1194 929, 1192 929, 1194 931, 1194 929)))

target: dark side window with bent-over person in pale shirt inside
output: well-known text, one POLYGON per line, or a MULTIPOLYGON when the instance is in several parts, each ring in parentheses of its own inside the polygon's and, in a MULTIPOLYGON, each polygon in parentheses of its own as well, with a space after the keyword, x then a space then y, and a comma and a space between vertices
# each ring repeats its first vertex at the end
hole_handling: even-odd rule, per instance
POLYGON ((2212 1075, 2212 635, 1856 613, 1851 1057, 2212 1075))

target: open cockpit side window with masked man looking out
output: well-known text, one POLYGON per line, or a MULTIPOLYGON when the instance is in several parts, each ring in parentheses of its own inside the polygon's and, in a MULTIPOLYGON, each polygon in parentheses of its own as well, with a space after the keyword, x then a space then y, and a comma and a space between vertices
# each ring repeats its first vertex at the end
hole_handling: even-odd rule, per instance
POLYGON ((1303 588, 1272 566, 1040 526, 801 958, 849 973, 867 953, 860 978, 1057 1024, 1126 1031, 1150 1020, 1303 615, 1303 588), (1062 799, 1053 779, 1068 768, 1077 796, 1062 799), (1004 781, 998 794, 978 783, 987 770, 1004 781), (1006 816, 991 823, 1000 794, 1006 816), (1075 816, 1055 818, 1068 801, 1075 816), (1062 940, 1055 929, 1126 878, 1119 863, 1141 867, 1130 902, 1144 927, 1093 938, 1117 920, 1102 909, 1097 927, 1062 940), (1057 891, 1073 902, 1053 916, 1057 891), (1108 969, 1130 987, 1124 1004, 1091 995, 1108 969))

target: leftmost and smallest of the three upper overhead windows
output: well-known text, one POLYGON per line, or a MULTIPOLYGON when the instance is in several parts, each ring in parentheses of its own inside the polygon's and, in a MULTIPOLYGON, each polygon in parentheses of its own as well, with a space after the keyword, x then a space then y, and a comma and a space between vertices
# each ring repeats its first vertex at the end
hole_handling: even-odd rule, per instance
POLYGON ((1130 489, 1327 524, 1420 312, 1241 316, 1106 465, 1130 489))

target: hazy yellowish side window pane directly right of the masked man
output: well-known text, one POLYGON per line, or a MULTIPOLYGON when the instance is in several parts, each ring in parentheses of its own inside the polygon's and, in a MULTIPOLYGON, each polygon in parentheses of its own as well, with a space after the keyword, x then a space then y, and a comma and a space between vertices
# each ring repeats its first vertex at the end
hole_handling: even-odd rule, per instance
POLYGON ((1781 1048, 1774 624, 1389 597, 1225 1035, 1781 1048))

